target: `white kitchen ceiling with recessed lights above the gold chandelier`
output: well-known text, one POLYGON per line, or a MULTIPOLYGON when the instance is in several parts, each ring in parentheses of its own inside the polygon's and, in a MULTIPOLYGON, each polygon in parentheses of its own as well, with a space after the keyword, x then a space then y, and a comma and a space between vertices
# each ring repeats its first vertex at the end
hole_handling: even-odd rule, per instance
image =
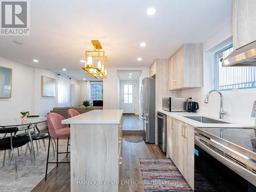
POLYGON ((184 42, 205 41, 230 21, 231 0, 30 1, 30 35, 0 36, 0 56, 69 73, 81 70, 84 51, 98 39, 109 67, 146 67, 184 42), (156 14, 149 16, 152 6, 156 14))

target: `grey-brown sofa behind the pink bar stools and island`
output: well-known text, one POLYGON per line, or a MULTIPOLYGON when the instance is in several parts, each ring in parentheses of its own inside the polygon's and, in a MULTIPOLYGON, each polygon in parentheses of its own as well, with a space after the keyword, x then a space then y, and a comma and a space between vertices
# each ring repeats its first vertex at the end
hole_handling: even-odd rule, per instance
POLYGON ((55 108, 52 109, 51 113, 57 113, 67 119, 69 109, 74 109, 78 111, 80 114, 82 114, 92 110, 103 110, 103 106, 62 106, 62 107, 56 106, 55 108))

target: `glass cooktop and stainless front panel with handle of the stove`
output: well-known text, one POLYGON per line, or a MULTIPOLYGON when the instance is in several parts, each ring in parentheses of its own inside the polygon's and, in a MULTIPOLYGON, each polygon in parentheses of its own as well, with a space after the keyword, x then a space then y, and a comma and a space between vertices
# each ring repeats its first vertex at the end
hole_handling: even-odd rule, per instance
POLYGON ((195 128, 195 144, 256 186, 255 129, 195 128))

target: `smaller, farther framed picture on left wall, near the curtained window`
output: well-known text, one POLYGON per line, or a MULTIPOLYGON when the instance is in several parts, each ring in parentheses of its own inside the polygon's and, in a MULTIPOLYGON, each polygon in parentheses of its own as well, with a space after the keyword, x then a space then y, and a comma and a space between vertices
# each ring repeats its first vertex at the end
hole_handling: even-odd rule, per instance
POLYGON ((55 97, 56 79, 41 76, 42 97, 55 97))

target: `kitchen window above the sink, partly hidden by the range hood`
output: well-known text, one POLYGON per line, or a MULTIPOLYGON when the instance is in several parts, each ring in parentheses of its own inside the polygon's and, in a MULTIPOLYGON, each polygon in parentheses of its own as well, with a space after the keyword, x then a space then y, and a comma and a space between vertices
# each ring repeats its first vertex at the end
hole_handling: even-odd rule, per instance
POLYGON ((221 61, 233 51, 232 45, 215 54, 215 89, 232 90, 256 87, 256 67, 222 67, 221 61))

